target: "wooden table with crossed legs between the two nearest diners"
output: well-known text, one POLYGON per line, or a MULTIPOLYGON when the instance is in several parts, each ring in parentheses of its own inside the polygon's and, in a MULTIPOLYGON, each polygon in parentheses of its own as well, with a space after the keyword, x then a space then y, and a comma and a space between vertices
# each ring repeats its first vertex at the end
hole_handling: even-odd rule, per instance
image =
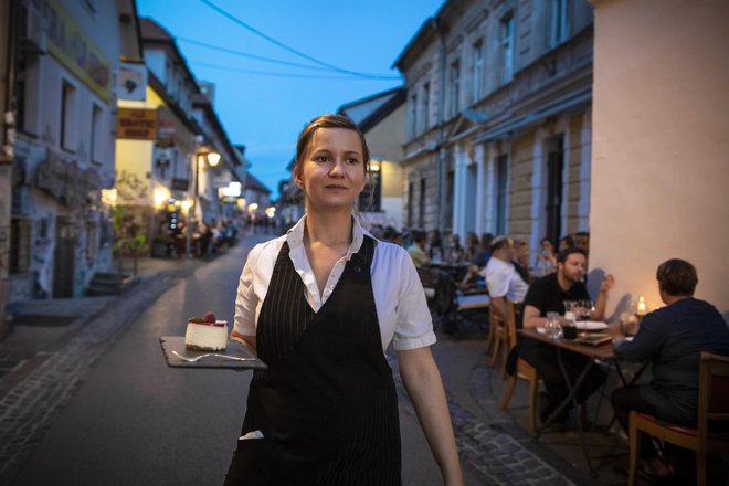
MULTIPOLYGON (((606 362, 609 372, 610 372, 610 369, 614 368, 617 371, 617 376, 620 377, 621 383, 623 385, 633 384, 641 377, 641 374, 643 373, 643 371, 647 367, 647 362, 643 363, 643 366, 640 368, 638 372, 635 373, 635 376, 630 380, 630 382, 627 382, 627 380, 625 380, 625 376, 623 373, 623 370, 620 366, 620 360, 619 360, 617 356, 615 355, 615 350, 613 348, 612 340, 610 340, 608 342, 604 342, 604 344, 601 344, 601 345, 587 345, 587 344, 578 342, 578 341, 574 341, 574 340, 567 340, 567 339, 563 339, 563 338, 557 338, 556 339, 556 338, 552 338, 550 336, 547 336, 547 334, 539 332, 535 328, 519 329, 518 332, 524 337, 527 337, 527 338, 530 338, 530 339, 536 339, 538 341, 546 342, 546 344, 548 344, 550 346, 554 346, 557 348, 557 361, 558 361, 558 364, 559 364, 560 370, 562 372, 562 377, 564 377, 564 381, 567 383, 567 387, 570 390, 569 394, 567 395, 567 398, 564 398, 562 403, 560 403, 559 406, 557 406, 557 409, 551 413, 551 415, 549 415, 549 418, 547 419, 547 421, 545 423, 539 425, 539 427, 537 429, 537 433, 535 434, 535 440, 536 441, 539 440, 539 436, 545 431, 545 429, 547 426, 549 426, 554 421, 554 419, 558 416, 558 414, 562 410, 564 410, 570 403, 572 403, 572 405, 575 406, 575 408, 578 406, 577 398, 575 398, 577 391, 582 385, 582 382, 587 378, 590 369, 593 366, 595 366, 595 361, 606 362), (574 384, 571 383, 571 381, 569 379, 569 376, 567 373, 567 370, 564 369, 564 364, 562 363, 562 357, 561 357, 561 350, 562 349, 567 349, 569 351, 573 351, 573 352, 577 352, 579 355, 587 356, 589 358, 588 363, 584 366, 584 368, 580 372, 580 376, 578 377, 574 384)), ((595 410, 595 418, 598 416, 598 414, 600 412, 600 405, 602 404, 602 400, 604 399, 604 393, 603 392, 604 392, 604 387, 605 387, 606 383, 608 383, 608 380, 605 380, 605 383, 603 383, 602 388, 600 389, 601 398, 600 398, 600 402, 598 403, 598 409, 595 410)), ((613 419, 611 420, 610 425, 612 425, 612 423, 614 421, 615 421, 615 416, 613 415, 613 419)), ((578 431, 579 431, 579 434, 580 434, 580 443, 581 443, 581 446, 582 446, 582 453, 583 453, 584 458, 588 463, 588 467, 590 468, 590 472, 594 475, 594 474, 596 474, 596 469, 599 467, 595 468, 595 467, 592 466, 592 461, 591 461, 591 457, 590 457, 590 441, 589 441, 589 437, 585 434, 585 431, 582 427, 582 421, 581 420, 578 420, 578 431)))

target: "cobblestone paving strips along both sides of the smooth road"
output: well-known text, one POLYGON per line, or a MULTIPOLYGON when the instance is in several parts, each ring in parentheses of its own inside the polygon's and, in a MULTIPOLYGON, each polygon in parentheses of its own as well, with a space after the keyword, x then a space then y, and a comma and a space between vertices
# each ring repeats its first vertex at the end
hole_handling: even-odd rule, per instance
MULTIPOLYGON (((251 244, 252 241, 246 241, 245 247, 251 244)), ((184 282, 197 268, 214 264, 193 261, 180 268, 155 268, 142 274, 124 296, 108 299, 103 308, 66 326, 62 338, 53 346, 22 360, 2 377, 0 483, 13 484, 73 395, 84 387, 115 342, 135 324, 136 316, 156 305, 167 290, 184 282)), ((78 303, 83 305, 83 299, 78 303)), ((77 310, 78 315, 84 314, 83 309, 77 310)), ((8 339, 0 344, 0 349, 3 355, 9 355, 12 346, 13 340, 8 339)), ((495 378, 495 371, 487 367, 478 331, 457 340, 440 336, 433 352, 446 385, 466 484, 595 484, 596 479, 589 478, 569 459, 533 442, 522 429, 524 424, 515 421, 518 414, 509 415, 498 410, 496 397, 500 394, 501 380, 495 378)), ((404 414, 409 419, 403 427, 416 427, 415 412, 400 382, 393 356, 390 356, 390 361, 401 394, 401 416, 404 414)), ((517 394, 519 390, 520 387, 517 387, 517 394)), ((526 393, 525 390, 522 392, 526 393)), ((515 398, 515 402, 518 400, 515 398)), ((406 446, 406 443, 403 444, 403 451, 406 446)), ((405 461, 406 457, 404 452, 405 461)), ((408 480, 406 475, 404 479, 408 480)), ((431 479, 437 484, 437 478, 431 479)), ((422 483, 415 480, 406 484, 422 483)))

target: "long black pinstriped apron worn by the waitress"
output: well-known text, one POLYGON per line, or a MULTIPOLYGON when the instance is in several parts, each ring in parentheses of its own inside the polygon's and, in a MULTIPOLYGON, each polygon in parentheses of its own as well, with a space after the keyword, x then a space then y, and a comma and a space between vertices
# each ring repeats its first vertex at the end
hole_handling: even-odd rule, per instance
POLYGON ((318 313, 284 243, 256 329, 253 373, 225 485, 400 485, 398 397, 380 338, 364 237, 318 313))

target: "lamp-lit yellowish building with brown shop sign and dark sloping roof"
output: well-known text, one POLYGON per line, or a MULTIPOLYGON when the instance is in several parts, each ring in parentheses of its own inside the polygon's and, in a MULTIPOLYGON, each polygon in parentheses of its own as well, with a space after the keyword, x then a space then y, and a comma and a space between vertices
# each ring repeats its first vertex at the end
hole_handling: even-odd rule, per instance
POLYGON ((240 184, 245 165, 214 112, 212 85, 199 84, 160 24, 140 19, 140 32, 145 64, 137 78, 146 89, 119 101, 117 232, 131 244, 147 242, 152 256, 169 256, 188 250, 175 244, 186 225, 197 231, 198 223, 233 216, 234 200, 219 190, 240 184))

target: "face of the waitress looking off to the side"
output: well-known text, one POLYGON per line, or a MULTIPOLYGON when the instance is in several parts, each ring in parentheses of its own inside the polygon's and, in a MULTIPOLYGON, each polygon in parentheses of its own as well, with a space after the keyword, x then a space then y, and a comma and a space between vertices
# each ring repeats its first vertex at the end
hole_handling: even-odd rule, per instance
POLYGON ((307 207, 351 209, 364 189, 364 160, 359 135, 346 128, 319 128, 296 175, 307 207))

